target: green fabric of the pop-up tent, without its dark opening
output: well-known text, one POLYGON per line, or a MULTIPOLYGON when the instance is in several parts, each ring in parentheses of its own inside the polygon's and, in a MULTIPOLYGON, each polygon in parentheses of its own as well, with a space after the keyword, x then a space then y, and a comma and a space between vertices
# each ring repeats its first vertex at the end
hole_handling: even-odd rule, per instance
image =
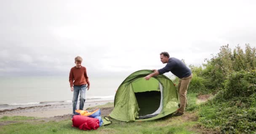
MULTIPOLYGON (((173 85, 173 82, 165 75, 152 77, 149 81, 143 79, 143 77, 151 74, 152 72, 152 70, 140 70, 132 73, 122 82, 115 94, 115 108, 109 114, 111 118, 120 121, 149 121, 167 116, 168 114, 171 114, 177 110, 178 93, 176 87, 173 85), (159 82, 163 86, 162 111, 155 117, 139 120, 138 117, 140 108, 145 107, 141 106, 139 108, 135 92, 159 91, 159 82)), ((150 104, 155 106, 153 103, 150 104)), ((141 109, 141 111, 147 110, 149 109, 141 109)))

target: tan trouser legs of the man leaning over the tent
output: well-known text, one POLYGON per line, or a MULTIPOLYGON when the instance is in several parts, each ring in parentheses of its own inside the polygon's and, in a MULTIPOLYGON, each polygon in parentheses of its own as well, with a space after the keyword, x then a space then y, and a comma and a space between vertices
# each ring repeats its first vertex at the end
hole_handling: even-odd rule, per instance
POLYGON ((179 98, 180 98, 180 108, 178 113, 184 113, 186 108, 186 101, 187 101, 187 88, 189 87, 189 82, 192 79, 192 75, 186 78, 181 79, 181 86, 179 88, 179 98))

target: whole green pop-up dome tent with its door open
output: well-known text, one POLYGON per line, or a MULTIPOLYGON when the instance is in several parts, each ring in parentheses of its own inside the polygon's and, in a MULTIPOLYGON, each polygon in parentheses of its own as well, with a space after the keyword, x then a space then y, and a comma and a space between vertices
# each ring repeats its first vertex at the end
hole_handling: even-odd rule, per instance
POLYGON ((115 94, 115 108, 109 114, 120 121, 149 121, 175 112, 178 93, 165 75, 145 80, 152 70, 140 70, 129 75, 115 94))

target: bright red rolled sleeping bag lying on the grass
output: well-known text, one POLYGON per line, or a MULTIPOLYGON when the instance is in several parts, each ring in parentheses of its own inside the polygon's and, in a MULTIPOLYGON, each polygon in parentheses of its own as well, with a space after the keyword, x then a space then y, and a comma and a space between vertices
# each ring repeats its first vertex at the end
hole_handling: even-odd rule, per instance
POLYGON ((99 119, 87 116, 75 115, 72 119, 73 125, 81 130, 91 130, 99 128, 99 119))

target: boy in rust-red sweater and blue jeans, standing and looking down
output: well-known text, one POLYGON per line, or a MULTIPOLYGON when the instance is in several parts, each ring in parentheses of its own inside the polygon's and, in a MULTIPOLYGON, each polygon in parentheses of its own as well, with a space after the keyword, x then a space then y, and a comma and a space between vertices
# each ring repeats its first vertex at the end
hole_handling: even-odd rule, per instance
POLYGON ((71 91, 73 92, 73 114, 75 115, 75 110, 77 108, 77 99, 80 92, 80 105, 79 110, 83 110, 83 105, 85 103, 85 89, 90 88, 90 82, 88 80, 86 68, 81 66, 83 59, 80 56, 75 57, 75 67, 72 67, 69 73, 69 83, 71 91))

